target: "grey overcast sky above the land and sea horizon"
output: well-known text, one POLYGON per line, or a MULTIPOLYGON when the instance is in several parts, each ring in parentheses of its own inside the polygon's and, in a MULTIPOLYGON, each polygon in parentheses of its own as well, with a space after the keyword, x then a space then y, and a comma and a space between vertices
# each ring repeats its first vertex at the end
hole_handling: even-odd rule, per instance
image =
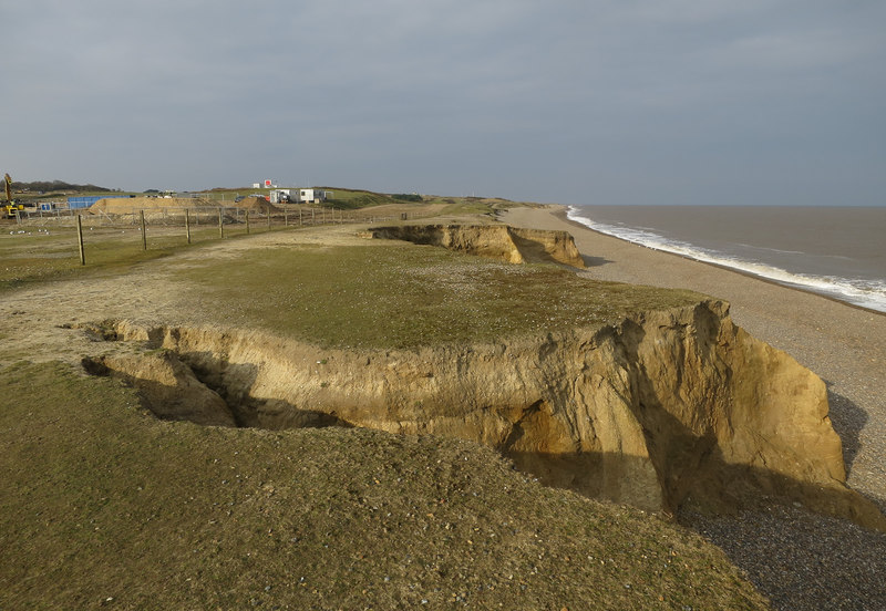
POLYGON ((883 0, 0 0, 0 172, 886 205, 883 0))

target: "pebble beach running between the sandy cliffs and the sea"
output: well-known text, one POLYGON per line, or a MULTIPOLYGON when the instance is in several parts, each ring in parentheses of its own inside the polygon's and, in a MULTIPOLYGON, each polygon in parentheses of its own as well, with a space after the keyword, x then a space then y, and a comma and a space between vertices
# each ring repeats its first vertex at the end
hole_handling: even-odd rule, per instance
MULTIPOLYGON (((825 381, 847 484, 886 511, 886 314, 605 236, 569 220, 562 206, 499 218, 570 232, 589 278, 729 301, 736 324, 825 381)), ((884 534, 793 506, 717 518, 684 511, 679 520, 721 547, 774 609, 886 609, 884 534)))

